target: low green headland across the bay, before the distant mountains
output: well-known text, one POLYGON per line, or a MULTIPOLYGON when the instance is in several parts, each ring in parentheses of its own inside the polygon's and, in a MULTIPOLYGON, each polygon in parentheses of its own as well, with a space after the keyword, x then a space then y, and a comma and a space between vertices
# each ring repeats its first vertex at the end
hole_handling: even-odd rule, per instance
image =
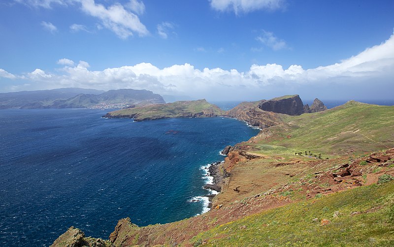
POLYGON ((207 102, 205 99, 199 99, 123 109, 109 112, 104 117, 133 118, 134 121, 144 121, 164 118, 217 117, 222 115, 224 115, 224 111, 219 107, 207 102))

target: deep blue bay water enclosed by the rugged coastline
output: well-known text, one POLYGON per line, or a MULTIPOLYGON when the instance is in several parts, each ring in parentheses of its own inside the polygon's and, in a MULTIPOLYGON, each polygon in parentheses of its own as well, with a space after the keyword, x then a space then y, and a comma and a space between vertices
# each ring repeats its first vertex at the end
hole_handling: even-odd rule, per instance
POLYGON ((204 210, 201 166, 258 130, 228 118, 133 123, 86 109, 0 111, 0 246, 49 246, 71 225, 108 238, 117 221, 204 210))

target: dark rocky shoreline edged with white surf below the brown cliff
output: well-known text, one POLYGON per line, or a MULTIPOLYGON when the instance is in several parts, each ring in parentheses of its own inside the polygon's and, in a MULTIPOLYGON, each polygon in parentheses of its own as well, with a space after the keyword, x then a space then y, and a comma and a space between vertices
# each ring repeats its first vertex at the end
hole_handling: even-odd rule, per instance
MULTIPOLYGON (((205 189, 211 189, 215 190, 216 192, 220 193, 222 190, 222 184, 224 183, 224 179, 230 177, 230 173, 228 173, 226 170, 224 170, 223 174, 220 172, 220 165, 223 164, 224 161, 217 161, 208 167, 208 176, 213 177, 213 183, 212 184, 205 184, 203 187, 205 189)), ((212 200, 217 194, 210 194, 206 195, 205 197, 208 197, 209 204, 208 208, 212 208, 212 200)))

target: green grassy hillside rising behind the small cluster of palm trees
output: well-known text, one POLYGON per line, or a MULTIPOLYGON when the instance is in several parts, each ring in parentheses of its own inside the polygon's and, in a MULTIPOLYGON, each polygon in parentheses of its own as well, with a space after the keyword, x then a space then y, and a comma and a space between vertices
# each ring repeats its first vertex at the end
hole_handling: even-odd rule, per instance
POLYGON ((362 153, 394 146, 394 107, 350 101, 313 114, 284 116, 285 124, 268 128, 254 141, 269 154, 309 152, 323 155, 362 153))

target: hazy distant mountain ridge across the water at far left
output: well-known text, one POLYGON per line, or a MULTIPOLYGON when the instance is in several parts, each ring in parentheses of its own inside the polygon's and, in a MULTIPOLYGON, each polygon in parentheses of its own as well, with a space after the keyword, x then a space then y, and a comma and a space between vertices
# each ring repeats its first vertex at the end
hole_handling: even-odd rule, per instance
POLYGON ((147 90, 99 91, 66 88, 42 91, 0 93, 0 109, 125 108, 139 104, 163 104, 163 97, 147 90))

